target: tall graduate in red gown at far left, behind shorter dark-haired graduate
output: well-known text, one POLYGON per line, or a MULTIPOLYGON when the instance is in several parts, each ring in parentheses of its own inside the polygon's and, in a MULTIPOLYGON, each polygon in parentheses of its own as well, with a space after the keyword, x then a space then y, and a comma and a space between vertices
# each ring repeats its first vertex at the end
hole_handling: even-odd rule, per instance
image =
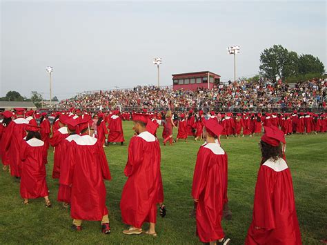
POLYGON ((24 118, 23 108, 15 108, 17 119, 12 121, 7 130, 6 137, 3 139, 4 150, 8 151, 8 159, 10 165, 10 174, 16 179, 21 177, 21 158, 19 153, 21 150, 21 144, 23 144, 23 138, 26 136, 26 125, 29 121, 24 118))

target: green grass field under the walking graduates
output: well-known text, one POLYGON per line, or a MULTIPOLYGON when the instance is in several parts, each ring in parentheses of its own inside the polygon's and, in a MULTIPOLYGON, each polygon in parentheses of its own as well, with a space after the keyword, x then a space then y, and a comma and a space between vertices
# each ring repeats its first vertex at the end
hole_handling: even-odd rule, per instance
MULTIPOLYGON (((52 208, 45 208, 43 198, 21 204, 19 184, 0 170, 0 244, 199 244, 195 236, 195 219, 189 217, 193 202, 190 196, 192 175, 200 141, 189 139, 161 145, 161 173, 164 182, 165 204, 163 219, 157 217, 158 237, 127 236, 121 231, 119 201, 126 182, 128 141, 132 137, 132 123, 123 122, 125 145, 110 145, 106 149, 112 180, 106 182, 110 235, 100 233, 99 222, 83 222, 83 231, 70 230, 72 219, 67 209, 56 201, 58 184, 51 178, 53 154, 49 150, 48 187, 52 208)), ((161 130, 159 134, 161 138, 161 130)), ((176 130, 175 130, 176 133, 176 130)), ((286 157, 293 175, 297 217, 303 244, 320 244, 327 238, 327 134, 292 135, 287 137, 286 157)), ((228 153, 228 198, 232 220, 223 221, 226 235, 232 244, 244 244, 252 219, 252 204, 259 168, 259 137, 222 139, 228 153)), ((146 228, 146 225, 143 227, 146 228)))

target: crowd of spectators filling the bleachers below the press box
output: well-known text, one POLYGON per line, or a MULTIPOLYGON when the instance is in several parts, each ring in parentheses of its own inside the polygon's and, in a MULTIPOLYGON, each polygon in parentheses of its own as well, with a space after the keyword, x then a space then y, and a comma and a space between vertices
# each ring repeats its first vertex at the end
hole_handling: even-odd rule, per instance
POLYGON ((212 90, 198 88, 172 90, 155 86, 133 89, 81 93, 60 102, 59 108, 110 110, 111 108, 316 108, 325 107, 327 81, 312 79, 290 87, 281 81, 235 81, 220 84, 212 90))

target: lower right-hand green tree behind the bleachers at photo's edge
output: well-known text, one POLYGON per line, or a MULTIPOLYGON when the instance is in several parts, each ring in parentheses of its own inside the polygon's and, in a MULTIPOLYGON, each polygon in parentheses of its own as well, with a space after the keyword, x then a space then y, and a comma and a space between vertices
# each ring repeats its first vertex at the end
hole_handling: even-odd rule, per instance
POLYGON ((324 72, 325 66, 318 57, 314 57, 313 55, 301 55, 299 57, 299 73, 302 75, 308 73, 323 74, 324 72))

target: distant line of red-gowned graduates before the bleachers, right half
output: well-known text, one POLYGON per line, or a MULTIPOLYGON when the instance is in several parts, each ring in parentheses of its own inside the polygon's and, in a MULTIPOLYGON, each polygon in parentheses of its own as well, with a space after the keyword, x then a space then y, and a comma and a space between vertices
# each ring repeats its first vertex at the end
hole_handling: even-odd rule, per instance
MULTIPOLYGON (((197 115, 194 115, 193 111, 190 110, 187 115, 181 113, 179 120, 175 121, 178 126, 177 140, 186 139, 188 136, 194 136, 195 140, 199 139, 202 135, 204 128, 203 120, 206 118, 216 119, 219 125, 222 126, 223 130, 221 135, 225 135, 226 138, 230 135, 235 137, 243 137, 246 135, 253 136, 255 134, 262 133, 264 126, 275 126, 280 128, 284 135, 290 135, 292 133, 325 133, 327 130, 327 114, 321 114, 320 116, 311 112, 300 112, 297 114, 296 111, 293 114, 284 113, 266 113, 266 114, 250 114, 232 113, 216 114, 214 111, 210 112, 210 115, 204 115, 203 110, 199 110, 197 115)), ((165 123, 163 138, 165 135, 165 123)))

